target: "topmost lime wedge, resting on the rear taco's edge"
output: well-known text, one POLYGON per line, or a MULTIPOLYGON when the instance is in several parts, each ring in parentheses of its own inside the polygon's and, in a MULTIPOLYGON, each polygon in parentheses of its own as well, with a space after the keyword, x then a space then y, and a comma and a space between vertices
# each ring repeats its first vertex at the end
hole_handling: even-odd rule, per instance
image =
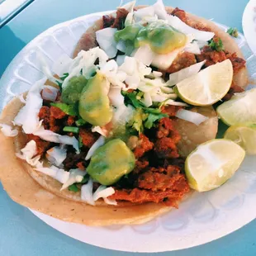
POLYGON ((178 96, 194 106, 212 105, 229 92, 232 79, 233 67, 226 59, 177 83, 178 96))

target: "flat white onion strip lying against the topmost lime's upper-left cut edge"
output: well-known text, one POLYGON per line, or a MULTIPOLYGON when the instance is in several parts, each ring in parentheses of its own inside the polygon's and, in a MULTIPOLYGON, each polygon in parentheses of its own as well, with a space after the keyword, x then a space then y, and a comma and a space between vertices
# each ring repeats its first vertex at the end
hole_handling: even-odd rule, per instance
POLYGON ((193 74, 198 73, 201 70, 201 67, 206 63, 206 61, 201 61, 197 64, 193 64, 185 69, 181 69, 178 72, 170 73, 168 85, 173 86, 186 78, 191 77, 193 74))

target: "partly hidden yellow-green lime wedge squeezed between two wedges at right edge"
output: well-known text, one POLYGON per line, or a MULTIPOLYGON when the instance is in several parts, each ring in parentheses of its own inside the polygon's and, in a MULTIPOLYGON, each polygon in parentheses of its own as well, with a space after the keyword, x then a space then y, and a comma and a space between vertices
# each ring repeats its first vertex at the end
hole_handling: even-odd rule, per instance
POLYGON ((226 130, 224 138, 233 140, 245 149, 247 154, 256 154, 256 125, 231 126, 226 130))

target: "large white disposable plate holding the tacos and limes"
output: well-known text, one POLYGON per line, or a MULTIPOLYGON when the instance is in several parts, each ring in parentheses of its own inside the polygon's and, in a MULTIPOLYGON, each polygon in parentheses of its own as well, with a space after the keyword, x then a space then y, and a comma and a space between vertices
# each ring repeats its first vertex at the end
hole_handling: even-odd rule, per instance
MULTIPOLYGON (((105 12, 106 13, 106 12, 105 12)), ((103 13, 61 23, 37 36, 12 60, 0 81, 0 100, 5 105, 12 92, 25 92, 43 73, 36 62, 36 50, 50 65, 59 55, 71 55, 82 33, 103 13)), ((226 29, 225 26, 221 26, 226 29)), ((255 76, 256 57, 252 56, 244 36, 236 39, 255 76)), ((2 107, 2 106, 1 106, 2 107)), ((56 230, 88 244, 130 252, 161 252, 204 244, 238 230, 256 217, 256 158, 247 157, 228 183, 216 191, 197 193, 173 210, 145 225, 89 227, 56 220, 32 211, 56 230)))

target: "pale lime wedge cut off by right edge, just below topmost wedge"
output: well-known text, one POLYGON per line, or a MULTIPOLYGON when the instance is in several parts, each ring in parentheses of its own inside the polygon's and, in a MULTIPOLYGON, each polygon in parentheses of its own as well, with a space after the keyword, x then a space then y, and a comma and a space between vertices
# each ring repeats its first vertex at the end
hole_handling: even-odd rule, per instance
POLYGON ((217 112, 228 126, 256 123, 256 88, 235 94, 230 101, 217 107, 217 112))

